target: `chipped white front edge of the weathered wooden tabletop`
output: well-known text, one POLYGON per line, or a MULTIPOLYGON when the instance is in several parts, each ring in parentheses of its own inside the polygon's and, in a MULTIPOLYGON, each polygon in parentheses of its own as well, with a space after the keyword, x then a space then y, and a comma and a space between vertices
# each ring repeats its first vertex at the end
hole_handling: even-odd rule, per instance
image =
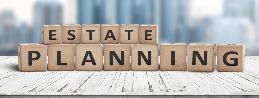
POLYGON ((1 92, 0 95, 259 95, 258 92, 1 92))

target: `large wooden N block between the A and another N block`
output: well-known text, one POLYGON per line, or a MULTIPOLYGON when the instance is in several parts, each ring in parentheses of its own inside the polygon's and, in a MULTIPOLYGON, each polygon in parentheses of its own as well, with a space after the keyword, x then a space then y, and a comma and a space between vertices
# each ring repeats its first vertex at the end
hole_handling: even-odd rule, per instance
POLYGON ((105 44, 105 71, 130 71, 130 44, 105 44))

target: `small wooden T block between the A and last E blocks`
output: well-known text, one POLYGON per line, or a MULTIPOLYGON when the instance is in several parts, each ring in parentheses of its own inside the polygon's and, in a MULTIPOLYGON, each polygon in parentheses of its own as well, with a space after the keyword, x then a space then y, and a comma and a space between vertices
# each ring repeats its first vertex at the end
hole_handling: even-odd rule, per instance
POLYGON ((139 43, 139 24, 120 25, 120 44, 139 43))

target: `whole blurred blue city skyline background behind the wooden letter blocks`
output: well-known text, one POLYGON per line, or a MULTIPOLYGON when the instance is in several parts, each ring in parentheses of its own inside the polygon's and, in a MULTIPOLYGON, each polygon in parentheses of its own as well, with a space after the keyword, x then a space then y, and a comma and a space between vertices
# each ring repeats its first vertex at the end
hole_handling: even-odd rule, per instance
POLYGON ((0 56, 41 43, 43 24, 158 24, 158 44, 245 43, 259 56, 259 0, 1 0, 0 56))

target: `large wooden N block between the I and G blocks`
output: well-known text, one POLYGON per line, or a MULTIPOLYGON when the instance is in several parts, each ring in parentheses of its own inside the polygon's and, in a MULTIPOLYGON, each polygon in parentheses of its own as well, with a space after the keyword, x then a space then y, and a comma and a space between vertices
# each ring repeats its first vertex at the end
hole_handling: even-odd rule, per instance
POLYGON ((216 67, 216 44, 191 43, 188 45, 187 70, 212 72, 216 67))

